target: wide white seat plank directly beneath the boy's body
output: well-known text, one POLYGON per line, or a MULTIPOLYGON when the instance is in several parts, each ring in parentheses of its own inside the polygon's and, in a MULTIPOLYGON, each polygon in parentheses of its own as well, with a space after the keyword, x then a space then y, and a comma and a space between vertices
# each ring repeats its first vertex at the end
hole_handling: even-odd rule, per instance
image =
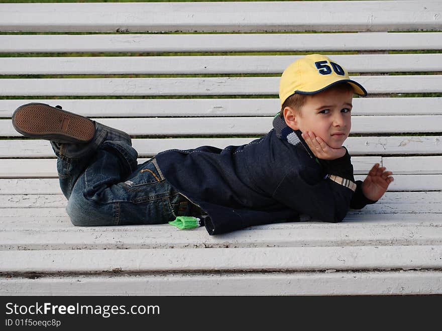
MULTIPOLYGON (((418 207, 418 204, 416 205, 418 207)), ((378 247, 442 243, 441 213, 358 214, 342 223, 275 223, 209 236, 204 228, 168 224, 75 227, 65 208, 2 208, 0 250, 175 249, 256 247, 378 247), (14 215, 12 215, 14 214, 14 215)))

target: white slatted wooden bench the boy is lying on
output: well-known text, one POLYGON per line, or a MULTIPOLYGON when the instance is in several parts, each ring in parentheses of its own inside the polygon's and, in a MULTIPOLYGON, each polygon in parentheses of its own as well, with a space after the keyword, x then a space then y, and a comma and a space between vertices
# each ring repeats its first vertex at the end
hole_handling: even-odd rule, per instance
POLYGON ((0 4, 0 31, 45 32, 0 35, 0 294, 441 294, 440 30, 440 1, 0 4), (21 104, 60 104, 128 132, 139 162, 244 144, 308 52, 369 92, 345 145, 356 179, 376 162, 395 178, 339 224, 74 227, 49 142, 11 124, 21 104))

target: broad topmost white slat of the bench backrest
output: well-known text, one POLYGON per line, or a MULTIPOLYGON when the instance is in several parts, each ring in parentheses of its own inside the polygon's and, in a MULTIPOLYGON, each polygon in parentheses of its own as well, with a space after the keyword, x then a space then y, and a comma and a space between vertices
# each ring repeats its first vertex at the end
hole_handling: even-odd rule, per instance
POLYGON ((2 31, 440 30, 438 1, 3 4, 2 31))

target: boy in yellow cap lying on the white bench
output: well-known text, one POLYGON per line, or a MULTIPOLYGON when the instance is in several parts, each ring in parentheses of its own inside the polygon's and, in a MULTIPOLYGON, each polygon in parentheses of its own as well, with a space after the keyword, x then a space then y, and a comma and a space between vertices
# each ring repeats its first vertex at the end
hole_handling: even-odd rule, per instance
POLYGON ((350 207, 384 194, 392 172, 375 164, 355 183, 342 147, 353 93, 367 95, 340 65, 307 55, 284 70, 281 112, 264 137, 223 150, 168 150, 143 164, 128 134, 60 106, 25 104, 12 121, 24 136, 51 141, 74 225, 162 224, 186 215, 215 235, 301 215, 341 222, 350 207))

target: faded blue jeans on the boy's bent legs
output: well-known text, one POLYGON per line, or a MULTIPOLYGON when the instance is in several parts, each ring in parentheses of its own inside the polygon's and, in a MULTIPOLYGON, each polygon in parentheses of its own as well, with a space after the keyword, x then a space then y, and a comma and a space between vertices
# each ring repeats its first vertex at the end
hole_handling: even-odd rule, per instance
POLYGON ((87 144, 52 142, 66 211, 75 226, 164 224, 201 209, 178 193, 155 158, 138 164, 131 137, 95 123, 87 144))

